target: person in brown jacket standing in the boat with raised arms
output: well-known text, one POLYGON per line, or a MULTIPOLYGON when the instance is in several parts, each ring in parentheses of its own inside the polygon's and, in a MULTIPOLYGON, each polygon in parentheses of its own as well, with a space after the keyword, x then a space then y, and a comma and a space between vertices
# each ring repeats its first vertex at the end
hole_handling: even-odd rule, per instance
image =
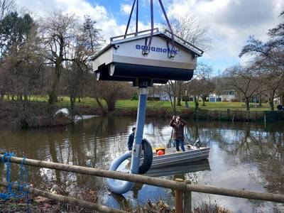
POLYGON ((185 139, 185 136, 183 129, 185 127, 185 121, 182 121, 182 119, 180 119, 180 116, 173 116, 173 119, 170 121, 170 126, 172 126, 174 129, 173 139, 175 140, 175 148, 177 149, 177 151, 180 151, 181 148, 184 152, 185 146, 183 145, 183 141, 185 139))

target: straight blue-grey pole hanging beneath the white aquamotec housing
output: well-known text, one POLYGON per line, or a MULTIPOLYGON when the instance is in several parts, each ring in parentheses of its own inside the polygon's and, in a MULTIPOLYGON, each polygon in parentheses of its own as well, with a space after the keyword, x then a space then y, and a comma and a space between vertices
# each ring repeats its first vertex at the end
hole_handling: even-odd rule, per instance
POLYGON ((142 138, 146 117, 146 104, 147 104, 148 88, 139 87, 139 102, 136 120, 136 132, 134 138, 134 144, 132 148, 132 158, 131 158, 131 174, 138 174, 140 157, 142 151, 142 138), (138 165, 138 166, 137 166, 138 165))

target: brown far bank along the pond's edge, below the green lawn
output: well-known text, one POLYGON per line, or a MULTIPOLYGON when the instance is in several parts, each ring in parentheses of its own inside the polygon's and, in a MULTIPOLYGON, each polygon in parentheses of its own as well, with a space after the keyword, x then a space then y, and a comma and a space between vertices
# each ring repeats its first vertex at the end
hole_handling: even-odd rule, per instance
MULTIPOLYGON (((70 109, 68 106, 56 104, 53 107, 46 102, 0 102, 0 125, 19 127, 52 127, 65 126, 73 122, 72 118, 64 114, 55 115, 61 108, 70 109)), ((195 111, 189 108, 179 108, 177 111, 184 119, 215 120, 215 121, 242 121, 242 122, 278 122, 284 121, 284 111, 239 111, 239 110, 207 110, 199 109, 195 111)), ((76 105, 73 110, 76 115, 103 115, 98 107, 89 105, 76 105)), ((137 109, 133 107, 118 107, 107 116, 136 116, 137 109)), ((148 117, 170 118, 173 111, 168 107, 151 105, 147 107, 148 117)))

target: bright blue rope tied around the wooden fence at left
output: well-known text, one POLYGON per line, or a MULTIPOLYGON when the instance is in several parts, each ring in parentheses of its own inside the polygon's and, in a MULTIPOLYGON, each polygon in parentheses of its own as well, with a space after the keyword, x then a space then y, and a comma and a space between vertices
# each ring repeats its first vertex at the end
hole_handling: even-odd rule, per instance
POLYGON ((4 193, 0 193, 0 198, 3 200, 9 200, 11 198, 21 199, 23 197, 26 198, 26 204, 27 204, 27 212, 30 212, 30 205, 28 200, 28 166, 24 165, 26 157, 23 157, 22 163, 20 165, 20 170, 18 174, 18 181, 11 183, 11 157, 13 157, 14 153, 4 153, 1 157, 1 162, 6 163, 6 182, 8 183, 8 186, 5 189, 4 193), (7 160, 5 160, 7 159, 7 160), (23 170, 24 170, 24 182, 23 180, 23 170), (16 190, 12 190, 12 186, 17 185, 16 190), (23 188, 26 187, 26 190, 24 191, 23 188))

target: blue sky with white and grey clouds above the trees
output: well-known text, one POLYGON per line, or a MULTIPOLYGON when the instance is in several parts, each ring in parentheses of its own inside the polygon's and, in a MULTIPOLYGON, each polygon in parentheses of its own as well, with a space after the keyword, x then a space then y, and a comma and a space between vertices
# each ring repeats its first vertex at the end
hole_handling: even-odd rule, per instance
MULTIPOLYGON (((165 23, 158 0, 155 4, 155 26, 165 23)), ((139 0, 139 30, 150 28, 150 0, 139 0)), ((74 13, 82 21, 89 15, 102 29, 104 39, 123 35, 133 0, 16 0, 18 6, 31 11, 35 18, 62 10, 74 13)), ((279 17, 284 11, 283 0, 163 0, 170 17, 192 16, 200 27, 207 29, 212 46, 205 51, 199 62, 212 67, 215 74, 237 64, 245 64, 249 57, 239 58, 241 48, 249 35, 263 41, 267 31, 283 21, 279 17)), ((133 31, 133 23, 131 30, 133 31)))

